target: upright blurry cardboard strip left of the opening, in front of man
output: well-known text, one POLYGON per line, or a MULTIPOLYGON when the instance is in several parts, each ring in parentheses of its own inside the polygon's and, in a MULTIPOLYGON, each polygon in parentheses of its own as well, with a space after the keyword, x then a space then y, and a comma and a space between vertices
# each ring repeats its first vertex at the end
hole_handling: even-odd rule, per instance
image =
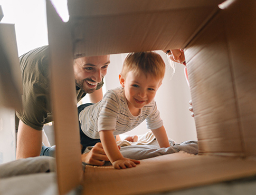
POLYGON ((83 177, 72 42, 50 0, 46 0, 46 11, 58 188, 59 194, 67 194, 81 184, 83 177))

